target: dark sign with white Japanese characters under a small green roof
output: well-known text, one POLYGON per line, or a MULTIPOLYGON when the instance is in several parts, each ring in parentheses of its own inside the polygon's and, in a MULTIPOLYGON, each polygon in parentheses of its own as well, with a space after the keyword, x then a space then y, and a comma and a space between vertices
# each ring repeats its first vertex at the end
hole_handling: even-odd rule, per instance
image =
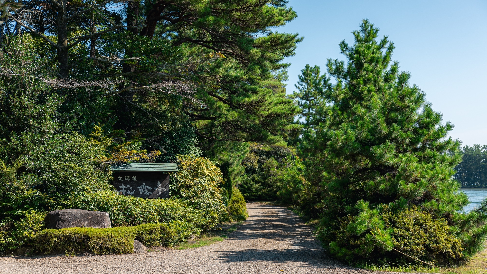
POLYGON ((169 197, 169 172, 178 170, 176 164, 131 163, 112 171, 118 194, 152 199, 169 197))

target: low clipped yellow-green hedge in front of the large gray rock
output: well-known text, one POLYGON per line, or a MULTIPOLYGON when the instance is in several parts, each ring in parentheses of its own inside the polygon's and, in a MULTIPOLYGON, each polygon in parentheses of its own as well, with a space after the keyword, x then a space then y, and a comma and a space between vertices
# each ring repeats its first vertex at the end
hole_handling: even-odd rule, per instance
POLYGON ((174 246, 199 231, 193 224, 174 221, 168 224, 143 224, 114 228, 45 229, 37 233, 32 245, 35 253, 56 254, 89 252, 93 254, 133 253, 133 241, 146 246, 174 246))

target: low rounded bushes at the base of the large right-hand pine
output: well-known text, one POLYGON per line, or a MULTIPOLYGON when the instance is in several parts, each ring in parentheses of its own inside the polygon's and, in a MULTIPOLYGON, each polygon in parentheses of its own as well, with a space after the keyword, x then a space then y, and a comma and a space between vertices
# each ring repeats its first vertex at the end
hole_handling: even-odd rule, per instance
MULTIPOLYGON (((462 259, 463 248, 461 241, 450 233, 450 226, 442 218, 433 219, 427 212, 416 208, 406 209, 392 213, 384 211, 377 215, 377 222, 384 220, 384 231, 392 236, 393 247, 408 254, 431 263, 455 265, 462 259)), ((334 241, 330 242, 330 250, 340 259, 348 262, 376 260, 379 264, 396 263, 405 265, 417 263, 410 257, 396 252, 377 250, 376 253, 364 252, 375 249, 375 238, 368 230, 360 230, 360 216, 346 215, 338 219, 339 229, 332 232, 334 241)), ((320 236, 326 236, 321 234, 320 236)))

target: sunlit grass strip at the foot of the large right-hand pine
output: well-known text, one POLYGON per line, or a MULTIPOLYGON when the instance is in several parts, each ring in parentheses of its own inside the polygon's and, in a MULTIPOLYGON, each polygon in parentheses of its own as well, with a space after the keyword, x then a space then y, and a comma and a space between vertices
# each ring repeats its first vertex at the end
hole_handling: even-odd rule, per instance
MULTIPOLYGON (((407 264, 407 265, 390 264, 384 266, 378 266, 375 264, 357 264, 355 267, 369 269, 373 271, 454 274, 453 272, 446 271, 439 268, 428 268, 422 266, 414 266, 411 264, 407 264)), ((472 261, 467 265, 456 267, 456 268, 448 268, 448 269, 462 274, 487 274, 487 249, 475 255, 472 258, 472 261)))

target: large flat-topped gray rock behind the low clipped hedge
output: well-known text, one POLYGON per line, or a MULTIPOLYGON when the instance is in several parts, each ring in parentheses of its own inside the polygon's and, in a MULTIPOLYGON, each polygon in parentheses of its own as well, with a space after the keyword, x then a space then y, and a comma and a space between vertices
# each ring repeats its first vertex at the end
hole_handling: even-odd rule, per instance
POLYGON ((106 212, 89 211, 82 209, 62 209, 51 211, 44 218, 46 228, 69 228, 69 227, 112 227, 110 216, 106 212))

